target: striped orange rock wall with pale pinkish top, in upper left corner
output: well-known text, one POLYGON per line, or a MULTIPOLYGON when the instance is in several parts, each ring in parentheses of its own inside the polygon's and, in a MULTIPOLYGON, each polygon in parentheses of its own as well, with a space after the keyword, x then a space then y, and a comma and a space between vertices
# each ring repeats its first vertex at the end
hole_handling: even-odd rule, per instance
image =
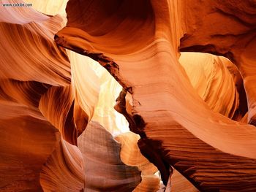
POLYGON ((68 85, 67 54, 53 41, 64 20, 58 15, 50 18, 39 14, 29 7, 0 9, 0 52, 4 55, 0 58, 0 78, 68 85))

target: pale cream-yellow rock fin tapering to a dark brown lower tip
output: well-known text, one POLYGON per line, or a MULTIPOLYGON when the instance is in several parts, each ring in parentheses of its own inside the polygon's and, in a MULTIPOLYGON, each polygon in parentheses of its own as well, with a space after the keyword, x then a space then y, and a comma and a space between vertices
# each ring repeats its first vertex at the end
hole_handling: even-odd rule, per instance
POLYGON ((72 94, 74 94, 74 119, 78 136, 91 118, 99 101, 99 77, 89 65, 80 61, 78 53, 68 51, 72 71, 72 94))

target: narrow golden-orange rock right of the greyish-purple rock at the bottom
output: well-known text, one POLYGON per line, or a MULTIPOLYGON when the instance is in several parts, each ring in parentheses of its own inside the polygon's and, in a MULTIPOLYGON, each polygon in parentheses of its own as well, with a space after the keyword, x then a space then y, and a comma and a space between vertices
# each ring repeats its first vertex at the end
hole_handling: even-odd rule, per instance
POLYGON ((141 153, 137 145, 140 136, 132 132, 119 134, 115 139, 121 143, 121 161, 129 166, 138 166, 141 171, 141 183, 135 188, 135 191, 157 191, 160 180, 155 175, 157 167, 151 164, 141 153))

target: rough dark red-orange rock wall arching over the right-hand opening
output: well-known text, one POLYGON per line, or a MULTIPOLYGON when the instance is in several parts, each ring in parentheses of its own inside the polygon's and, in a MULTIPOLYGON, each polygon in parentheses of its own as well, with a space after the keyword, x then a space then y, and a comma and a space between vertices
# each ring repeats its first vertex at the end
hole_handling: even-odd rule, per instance
POLYGON ((203 0, 197 4, 187 0, 183 3, 185 35, 181 39, 181 50, 230 58, 244 79, 248 122, 256 125, 256 2, 203 0))

